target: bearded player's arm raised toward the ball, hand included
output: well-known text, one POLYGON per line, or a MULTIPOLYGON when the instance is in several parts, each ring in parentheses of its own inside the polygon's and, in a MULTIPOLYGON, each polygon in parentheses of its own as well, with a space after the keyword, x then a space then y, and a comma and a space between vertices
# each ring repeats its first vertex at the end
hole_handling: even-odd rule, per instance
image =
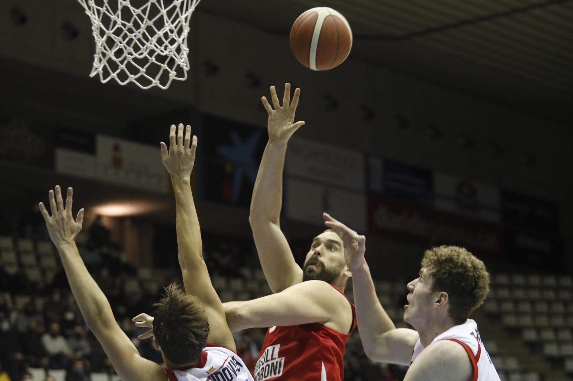
POLYGON ((274 86, 270 86, 270 95, 274 110, 266 97, 262 97, 262 104, 269 114, 269 142, 262 155, 254 184, 249 223, 253 229, 254 243, 266 281, 273 292, 281 292, 303 281, 303 271, 292 256, 291 248, 281 231, 279 219, 286 143, 304 122, 294 123, 300 89, 295 90, 291 102, 291 85, 285 84, 282 107, 274 86))

